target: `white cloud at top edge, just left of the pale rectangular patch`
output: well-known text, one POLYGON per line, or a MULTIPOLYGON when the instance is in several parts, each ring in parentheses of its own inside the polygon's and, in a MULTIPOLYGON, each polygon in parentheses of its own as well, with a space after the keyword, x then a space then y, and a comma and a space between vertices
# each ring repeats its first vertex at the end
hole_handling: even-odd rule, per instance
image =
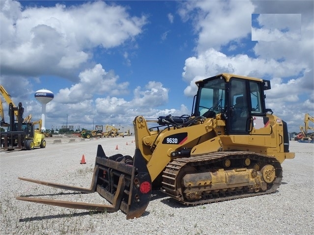
POLYGON ((183 19, 193 17, 200 53, 248 36, 254 5, 250 0, 187 1, 179 12, 183 19))

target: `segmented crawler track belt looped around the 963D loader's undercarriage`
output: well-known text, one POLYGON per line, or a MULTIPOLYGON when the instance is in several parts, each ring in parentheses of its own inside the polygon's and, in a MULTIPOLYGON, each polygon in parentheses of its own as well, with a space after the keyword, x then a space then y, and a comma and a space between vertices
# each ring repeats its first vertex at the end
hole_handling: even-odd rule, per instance
POLYGON ((193 205, 193 206, 269 194, 276 191, 276 189, 280 186, 282 178, 283 178, 282 167, 279 161, 275 157, 257 154, 255 152, 239 152, 239 151, 213 152, 213 153, 199 155, 199 156, 176 158, 166 166, 166 170, 163 173, 164 173, 163 174, 163 188, 165 189, 165 193, 171 196, 171 198, 179 201, 180 203, 184 205, 193 205), (238 194, 238 195, 224 196, 224 197, 193 201, 193 202, 184 201, 183 196, 180 195, 176 189, 177 176, 180 170, 184 170, 182 169, 183 167, 187 167, 187 166, 198 167, 198 166, 204 166, 206 164, 209 165, 218 161, 224 161, 226 159, 243 159, 243 158, 250 158, 251 160, 257 160, 258 162, 271 164, 275 167, 276 178, 274 182, 271 183, 272 185, 269 189, 262 192, 260 191, 256 193, 246 192, 246 193, 238 194))

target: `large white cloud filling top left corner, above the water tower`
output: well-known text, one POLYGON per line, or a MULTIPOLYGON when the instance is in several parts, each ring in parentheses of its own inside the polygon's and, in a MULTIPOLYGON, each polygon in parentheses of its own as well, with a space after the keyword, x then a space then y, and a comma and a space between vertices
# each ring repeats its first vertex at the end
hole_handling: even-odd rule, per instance
POLYGON ((66 78, 88 62, 91 49, 120 46, 146 24, 145 16, 130 16, 126 8, 104 1, 22 8, 5 0, 0 10, 2 75, 66 78))

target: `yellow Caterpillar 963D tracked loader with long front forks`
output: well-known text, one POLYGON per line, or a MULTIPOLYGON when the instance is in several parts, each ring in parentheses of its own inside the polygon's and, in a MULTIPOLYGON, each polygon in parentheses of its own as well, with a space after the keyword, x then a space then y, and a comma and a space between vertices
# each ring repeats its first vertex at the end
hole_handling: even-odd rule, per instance
POLYGON ((185 205, 202 205, 274 192, 289 153, 286 123, 265 107, 270 82, 220 74, 196 82, 192 115, 134 119, 134 157, 107 157, 98 145, 90 188, 19 178, 81 192, 97 191, 112 205, 17 197, 61 207, 121 209, 140 217, 153 188, 185 205))

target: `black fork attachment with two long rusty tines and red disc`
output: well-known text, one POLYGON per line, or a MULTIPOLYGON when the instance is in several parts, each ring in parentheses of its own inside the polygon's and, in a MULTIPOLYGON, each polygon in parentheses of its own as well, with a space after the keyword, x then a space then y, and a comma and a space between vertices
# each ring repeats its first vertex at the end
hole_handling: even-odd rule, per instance
POLYGON ((20 180, 38 183, 55 188, 92 193, 97 191, 112 205, 68 202, 50 199, 17 197, 22 201, 29 201, 52 206, 114 212, 122 210, 127 219, 140 217, 148 206, 151 195, 151 179, 146 162, 139 149, 134 157, 116 154, 107 157, 101 145, 98 145, 93 179, 90 188, 76 187, 58 183, 18 178, 20 180))

